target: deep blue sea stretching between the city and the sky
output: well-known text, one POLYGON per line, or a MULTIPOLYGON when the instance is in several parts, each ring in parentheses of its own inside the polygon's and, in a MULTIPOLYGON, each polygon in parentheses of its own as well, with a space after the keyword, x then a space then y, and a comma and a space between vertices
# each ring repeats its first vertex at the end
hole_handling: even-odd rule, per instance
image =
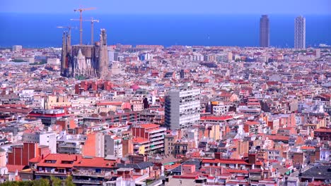
MULTIPOLYGON (((94 40, 100 28, 108 34, 108 44, 161 44, 204 46, 258 46, 260 15, 121 15, 88 14, 95 23, 94 40)), ((294 18, 297 15, 269 15, 270 44, 294 46, 294 18)), ((306 17, 306 44, 331 44, 331 15, 306 17)), ((72 43, 79 43, 78 13, 33 14, 0 13, 0 46, 61 46, 62 32, 57 26, 71 25, 72 43)), ((91 23, 83 22, 83 42, 90 43, 91 23)))

